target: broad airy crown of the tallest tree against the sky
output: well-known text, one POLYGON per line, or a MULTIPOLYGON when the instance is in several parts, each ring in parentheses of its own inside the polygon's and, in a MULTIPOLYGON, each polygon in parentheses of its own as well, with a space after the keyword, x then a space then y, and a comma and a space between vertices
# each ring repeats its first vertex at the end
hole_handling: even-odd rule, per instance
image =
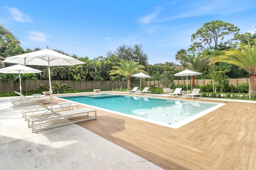
POLYGON ((229 49, 234 45, 239 31, 233 24, 220 20, 204 23, 202 28, 192 34, 191 41, 197 42, 190 45, 188 50, 202 52, 206 48, 210 51, 229 49))

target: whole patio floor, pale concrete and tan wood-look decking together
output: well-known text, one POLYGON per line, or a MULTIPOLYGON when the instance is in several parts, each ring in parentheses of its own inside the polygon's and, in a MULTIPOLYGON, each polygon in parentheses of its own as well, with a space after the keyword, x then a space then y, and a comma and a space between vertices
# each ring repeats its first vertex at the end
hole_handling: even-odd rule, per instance
MULTIPOLYGON (((31 169, 64 164, 76 169, 256 169, 256 102, 194 99, 226 105, 178 129, 97 110, 96 120, 79 126, 31 133, 21 107, 2 106, 0 100, 0 156, 6 169, 15 168, 11 160, 31 169)), ((59 102, 54 98, 54 104, 59 102)))

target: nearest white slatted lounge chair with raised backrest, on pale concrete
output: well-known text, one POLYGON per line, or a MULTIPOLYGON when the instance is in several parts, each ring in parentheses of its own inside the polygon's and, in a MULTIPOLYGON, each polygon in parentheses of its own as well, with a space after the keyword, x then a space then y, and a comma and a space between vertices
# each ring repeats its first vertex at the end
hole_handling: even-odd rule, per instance
POLYGON ((32 100, 33 102, 37 103, 38 105, 48 109, 48 111, 34 116, 28 116, 28 127, 31 127, 32 133, 36 131, 42 131, 45 129, 50 129, 53 127, 59 127, 63 125, 69 125, 71 123, 78 123, 81 121, 87 121, 92 119, 97 119, 97 110, 90 109, 90 108, 83 108, 83 109, 75 109, 75 110, 68 110, 68 111, 60 111, 56 112, 53 109, 45 106, 44 104, 26 97, 19 92, 16 92, 20 96, 32 100), (89 113, 94 112, 95 116, 90 116, 89 113), (83 118, 85 117, 85 118, 83 118), (77 119, 79 118, 79 119, 77 119), (70 119, 77 119, 74 121, 70 121, 70 119))

